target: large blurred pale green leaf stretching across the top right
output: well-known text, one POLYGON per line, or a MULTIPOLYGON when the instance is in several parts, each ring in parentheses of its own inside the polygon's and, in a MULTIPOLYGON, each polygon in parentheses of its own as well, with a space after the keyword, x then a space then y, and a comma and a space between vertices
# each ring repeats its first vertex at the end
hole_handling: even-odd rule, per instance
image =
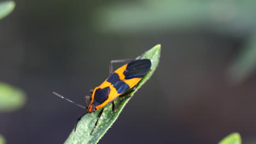
POLYGON ((241 35, 255 29, 256 1, 126 1, 98 8, 93 16, 99 31, 159 32, 207 28, 221 34, 241 35))

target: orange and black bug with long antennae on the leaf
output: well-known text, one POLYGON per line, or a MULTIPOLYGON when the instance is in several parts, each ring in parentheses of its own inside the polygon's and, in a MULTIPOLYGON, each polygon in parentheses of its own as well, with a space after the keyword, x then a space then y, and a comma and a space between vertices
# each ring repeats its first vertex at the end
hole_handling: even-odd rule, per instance
POLYGON ((91 89, 91 97, 86 96, 85 100, 87 103, 87 100, 90 100, 90 104, 88 107, 84 107, 82 105, 76 104, 73 101, 63 97, 60 94, 57 94, 53 92, 55 95, 57 95, 60 98, 66 99, 70 101, 71 103, 74 103, 80 107, 83 107, 84 109, 87 109, 87 112, 83 113, 79 118, 77 119, 77 122, 75 123, 74 131, 77 128, 77 124, 80 121, 80 119, 86 115, 87 113, 92 113, 97 110, 101 110, 98 113, 97 121, 94 125, 94 128, 91 131, 92 133, 95 131, 98 120, 100 119, 103 111, 104 106, 106 106, 109 103, 112 103, 112 112, 116 112, 122 103, 122 101, 130 98, 125 97, 131 92, 135 91, 135 89, 138 86, 138 83, 141 81, 142 77, 146 75, 151 68, 151 61, 150 59, 142 59, 144 56, 144 53, 139 57, 139 59, 117 59, 110 61, 109 63, 109 77, 98 87, 91 89), (113 72, 113 63, 119 63, 119 62, 129 62, 122 67, 118 68, 113 72), (115 107, 114 100, 118 97, 124 97, 121 99, 115 107))

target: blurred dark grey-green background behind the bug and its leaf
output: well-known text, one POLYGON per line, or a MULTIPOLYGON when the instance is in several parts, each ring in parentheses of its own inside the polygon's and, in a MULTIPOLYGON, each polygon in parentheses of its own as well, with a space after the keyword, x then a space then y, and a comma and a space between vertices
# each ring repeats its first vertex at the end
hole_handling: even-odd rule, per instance
POLYGON ((255 141, 256 1, 15 3, 0 21, 0 81, 26 104, 0 113, 7 143, 63 143, 84 110, 52 92, 85 104, 110 60, 156 44, 156 73, 99 143, 255 141))

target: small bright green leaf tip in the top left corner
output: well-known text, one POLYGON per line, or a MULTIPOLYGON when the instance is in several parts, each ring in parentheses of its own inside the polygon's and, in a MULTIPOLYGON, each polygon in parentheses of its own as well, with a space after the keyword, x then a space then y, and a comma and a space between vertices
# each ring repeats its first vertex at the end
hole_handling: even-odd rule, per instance
POLYGON ((15 3, 13 1, 6 1, 0 3, 0 20, 7 16, 11 11, 13 11, 15 3))

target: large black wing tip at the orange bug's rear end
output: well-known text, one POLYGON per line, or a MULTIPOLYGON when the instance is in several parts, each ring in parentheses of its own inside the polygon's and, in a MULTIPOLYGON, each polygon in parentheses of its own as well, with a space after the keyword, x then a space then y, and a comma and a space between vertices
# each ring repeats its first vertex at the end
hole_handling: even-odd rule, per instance
POLYGON ((139 59, 131 62, 124 71, 125 79, 141 78, 148 73, 150 67, 151 61, 149 59, 139 59))

